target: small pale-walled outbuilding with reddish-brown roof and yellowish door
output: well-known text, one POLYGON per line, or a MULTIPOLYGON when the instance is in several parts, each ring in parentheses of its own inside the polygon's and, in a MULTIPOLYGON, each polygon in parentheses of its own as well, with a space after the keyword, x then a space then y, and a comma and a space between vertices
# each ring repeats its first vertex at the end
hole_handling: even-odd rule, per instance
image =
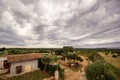
POLYGON ((8 55, 7 62, 10 64, 10 74, 25 73, 38 69, 40 53, 8 55))

